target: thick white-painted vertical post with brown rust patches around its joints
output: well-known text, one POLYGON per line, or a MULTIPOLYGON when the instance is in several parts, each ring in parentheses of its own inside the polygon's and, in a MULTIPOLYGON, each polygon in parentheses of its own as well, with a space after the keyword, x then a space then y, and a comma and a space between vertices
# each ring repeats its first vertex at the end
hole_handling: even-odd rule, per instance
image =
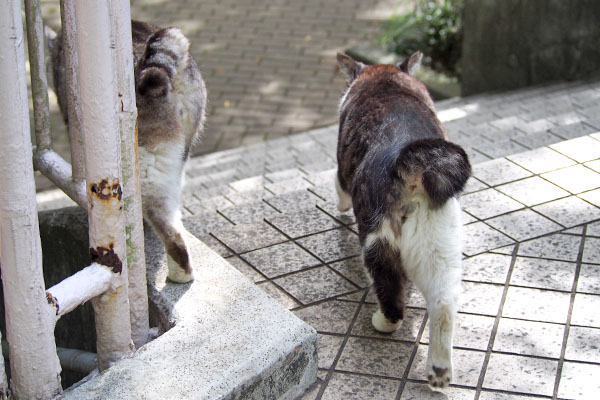
POLYGON ((90 252, 115 274, 112 288, 92 300, 101 371, 133 351, 110 6, 110 0, 75 2, 90 252))

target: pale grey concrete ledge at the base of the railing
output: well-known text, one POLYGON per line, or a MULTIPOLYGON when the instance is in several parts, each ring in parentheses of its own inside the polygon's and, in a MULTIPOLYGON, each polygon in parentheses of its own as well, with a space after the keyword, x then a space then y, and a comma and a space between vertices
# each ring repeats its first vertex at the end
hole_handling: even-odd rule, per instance
POLYGON ((167 283, 162 244, 146 234, 153 316, 171 329, 63 398, 294 399, 316 380, 316 331, 190 243, 196 280, 167 283))

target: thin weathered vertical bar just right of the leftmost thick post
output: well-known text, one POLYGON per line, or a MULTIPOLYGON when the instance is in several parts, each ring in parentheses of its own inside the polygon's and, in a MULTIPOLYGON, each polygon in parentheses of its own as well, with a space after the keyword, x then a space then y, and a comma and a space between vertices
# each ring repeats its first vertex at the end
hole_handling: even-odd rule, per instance
POLYGON ((44 63, 44 27, 39 0, 25 0, 27 47, 33 95, 33 121, 38 150, 52 148, 48 82, 44 63))

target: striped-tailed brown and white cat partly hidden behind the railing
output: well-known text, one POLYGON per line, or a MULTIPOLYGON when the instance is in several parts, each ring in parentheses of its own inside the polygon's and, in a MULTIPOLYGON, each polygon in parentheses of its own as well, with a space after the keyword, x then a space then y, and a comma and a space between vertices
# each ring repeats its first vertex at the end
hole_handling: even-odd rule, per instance
MULTIPOLYGON (((202 131, 206 88, 177 28, 132 21, 139 169, 144 218, 161 237, 173 282, 194 279, 181 222, 184 166, 202 131)), ((61 34, 47 30, 54 87, 65 122, 66 78, 61 34)))

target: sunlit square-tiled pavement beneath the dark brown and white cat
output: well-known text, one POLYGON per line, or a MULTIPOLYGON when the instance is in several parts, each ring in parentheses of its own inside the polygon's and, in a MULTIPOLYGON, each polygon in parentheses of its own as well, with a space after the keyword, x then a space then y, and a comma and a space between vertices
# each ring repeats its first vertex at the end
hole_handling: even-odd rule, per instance
POLYGON ((193 159, 185 224, 318 330, 319 379, 306 400, 596 398, 598 104, 600 82, 438 104, 475 164, 444 394, 425 384, 418 292, 399 331, 371 327, 376 299, 354 218, 336 209, 336 126, 193 159))

